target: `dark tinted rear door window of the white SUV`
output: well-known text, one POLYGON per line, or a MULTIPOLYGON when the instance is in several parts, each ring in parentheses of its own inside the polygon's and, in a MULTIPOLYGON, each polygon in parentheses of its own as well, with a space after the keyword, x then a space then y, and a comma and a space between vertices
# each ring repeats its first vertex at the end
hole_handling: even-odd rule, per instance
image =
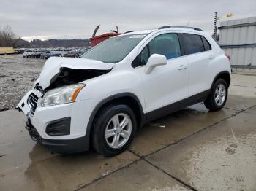
POLYGON ((182 36, 187 55, 204 51, 203 42, 199 35, 183 34, 182 36))

